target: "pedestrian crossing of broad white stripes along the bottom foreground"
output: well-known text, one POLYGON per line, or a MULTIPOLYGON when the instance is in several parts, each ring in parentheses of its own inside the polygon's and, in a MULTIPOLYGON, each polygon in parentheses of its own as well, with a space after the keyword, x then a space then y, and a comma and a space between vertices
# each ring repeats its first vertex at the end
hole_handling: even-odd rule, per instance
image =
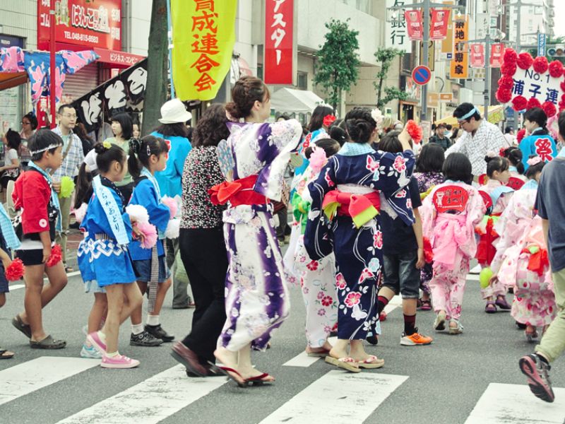
MULTIPOLYGON (((12 401, 25 400, 26 395, 40 389, 47 389, 48 395, 58 396, 58 383, 97 367, 98 364, 97 360, 44 356, 8 367, 0 371, 0 383, 4 387, 0 393, 0 405, 8 406, 12 401)), ((286 384, 289 384, 288 381, 286 384)), ((314 379, 304 389, 297 390, 297 393, 282 405, 273 401, 273 408, 263 417, 254 416, 253 421, 261 424, 368 423, 366 420, 369 416, 387 400, 392 401, 389 398, 407 384, 410 384, 408 375, 387 374, 382 370, 365 370, 352 374, 328 367, 327 372, 314 379)), ((477 399, 475 407, 468 413, 465 424, 563 424, 565 389, 554 388, 554 393, 554 403, 547 404, 536 399, 525 384, 488 384, 477 399)), ((190 408, 205 396, 218 396, 220 399, 239 396, 237 401, 241 404, 238 411, 234 411, 234 416, 237 416, 239 409, 245 410, 246 402, 254 402, 254 394, 259 395, 253 389, 237 389, 232 381, 226 381, 222 377, 186 377, 184 367, 175 365, 133 384, 114 396, 73 413, 58 423, 167 423, 174 414, 177 414, 177 418, 182 417, 184 408, 190 408)), ((400 393, 393 401, 404 405, 404 396, 400 393)), ((423 394, 420 401, 425 402, 423 394)), ((18 423, 18 420, 11 422, 18 423)), ((199 422, 215 421, 203 419, 199 422)))

